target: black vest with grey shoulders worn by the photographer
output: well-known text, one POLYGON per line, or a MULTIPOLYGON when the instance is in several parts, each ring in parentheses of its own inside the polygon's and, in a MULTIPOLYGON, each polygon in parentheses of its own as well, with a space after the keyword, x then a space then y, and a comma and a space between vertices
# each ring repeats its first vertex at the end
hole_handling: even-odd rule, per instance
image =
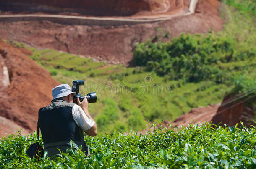
POLYGON ((79 147, 82 145, 82 151, 88 150, 84 142, 83 131, 73 119, 73 106, 73 103, 56 99, 52 104, 41 108, 38 112, 39 126, 44 141, 44 151, 48 151, 48 156, 50 157, 60 154, 58 149, 66 153, 66 149, 70 148, 69 143, 71 140, 79 147))

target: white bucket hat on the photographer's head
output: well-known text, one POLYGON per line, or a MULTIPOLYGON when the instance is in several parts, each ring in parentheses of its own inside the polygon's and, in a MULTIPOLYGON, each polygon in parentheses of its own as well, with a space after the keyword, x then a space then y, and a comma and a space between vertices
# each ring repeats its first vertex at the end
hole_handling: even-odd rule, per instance
POLYGON ((58 85, 52 89, 52 96, 53 96, 52 101, 56 98, 68 96, 71 93, 73 93, 73 96, 76 95, 76 92, 72 92, 68 84, 58 85))

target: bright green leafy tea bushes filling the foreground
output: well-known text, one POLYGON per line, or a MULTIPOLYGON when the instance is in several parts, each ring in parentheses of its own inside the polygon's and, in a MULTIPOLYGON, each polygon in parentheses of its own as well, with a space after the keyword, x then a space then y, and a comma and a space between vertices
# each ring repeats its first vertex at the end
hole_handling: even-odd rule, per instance
MULTIPOLYGON (((9 168, 256 168, 256 128, 223 128, 212 124, 188 125, 182 129, 160 126, 145 135, 117 134, 86 137, 91 156, 85 157, 71 141, 71 151, 56 160, 44 153, 38 162, 26 149, 36 139, 9 135, 0 141, 0 166, 9 168)), ((42 138, 39 137, 42 144, 42 138)))

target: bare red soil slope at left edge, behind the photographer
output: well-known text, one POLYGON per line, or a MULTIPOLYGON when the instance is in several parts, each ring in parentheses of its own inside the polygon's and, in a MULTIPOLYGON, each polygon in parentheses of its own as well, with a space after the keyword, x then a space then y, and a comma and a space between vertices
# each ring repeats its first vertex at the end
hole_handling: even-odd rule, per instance
POLYGON ((3 77, 2 66, 8 67, 10 77, 8 87, 0 84, 0 116, 16 123, 10 125, 8 120, 2 118, 0 135, 13 133, 17 131, 18 126, 27 129, 25 133, 34 131, 39 108, 50 103, 51 90, 59 82, 27 56, 31 54, 29 50, 14 48, 0 40, 0 51, 4 51, 0 54, 0 78, 3 77), (10 126, 13 126, 13 129, 10 129, 10 126))

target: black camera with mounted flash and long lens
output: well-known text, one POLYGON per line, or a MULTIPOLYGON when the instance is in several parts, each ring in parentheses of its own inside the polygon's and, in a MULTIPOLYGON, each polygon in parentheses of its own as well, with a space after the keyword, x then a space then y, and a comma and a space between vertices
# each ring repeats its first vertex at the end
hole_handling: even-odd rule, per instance
MULTIPOLYGON (((78 81, 73 81, 73 86, 72 86, 72 91, 76 92, 76 96, 73 96, 74 103, 76 103, 76 98, 79 98, 80 102, 84 100, 84 96, 82 96, 79 93, 79 86, 84 85, 84 81, 78 80, 78 81)), ((88 103, 95 103, 97 102, 97 96, 95 92, 88 93, 85 95, 87 98, 88 103)))

